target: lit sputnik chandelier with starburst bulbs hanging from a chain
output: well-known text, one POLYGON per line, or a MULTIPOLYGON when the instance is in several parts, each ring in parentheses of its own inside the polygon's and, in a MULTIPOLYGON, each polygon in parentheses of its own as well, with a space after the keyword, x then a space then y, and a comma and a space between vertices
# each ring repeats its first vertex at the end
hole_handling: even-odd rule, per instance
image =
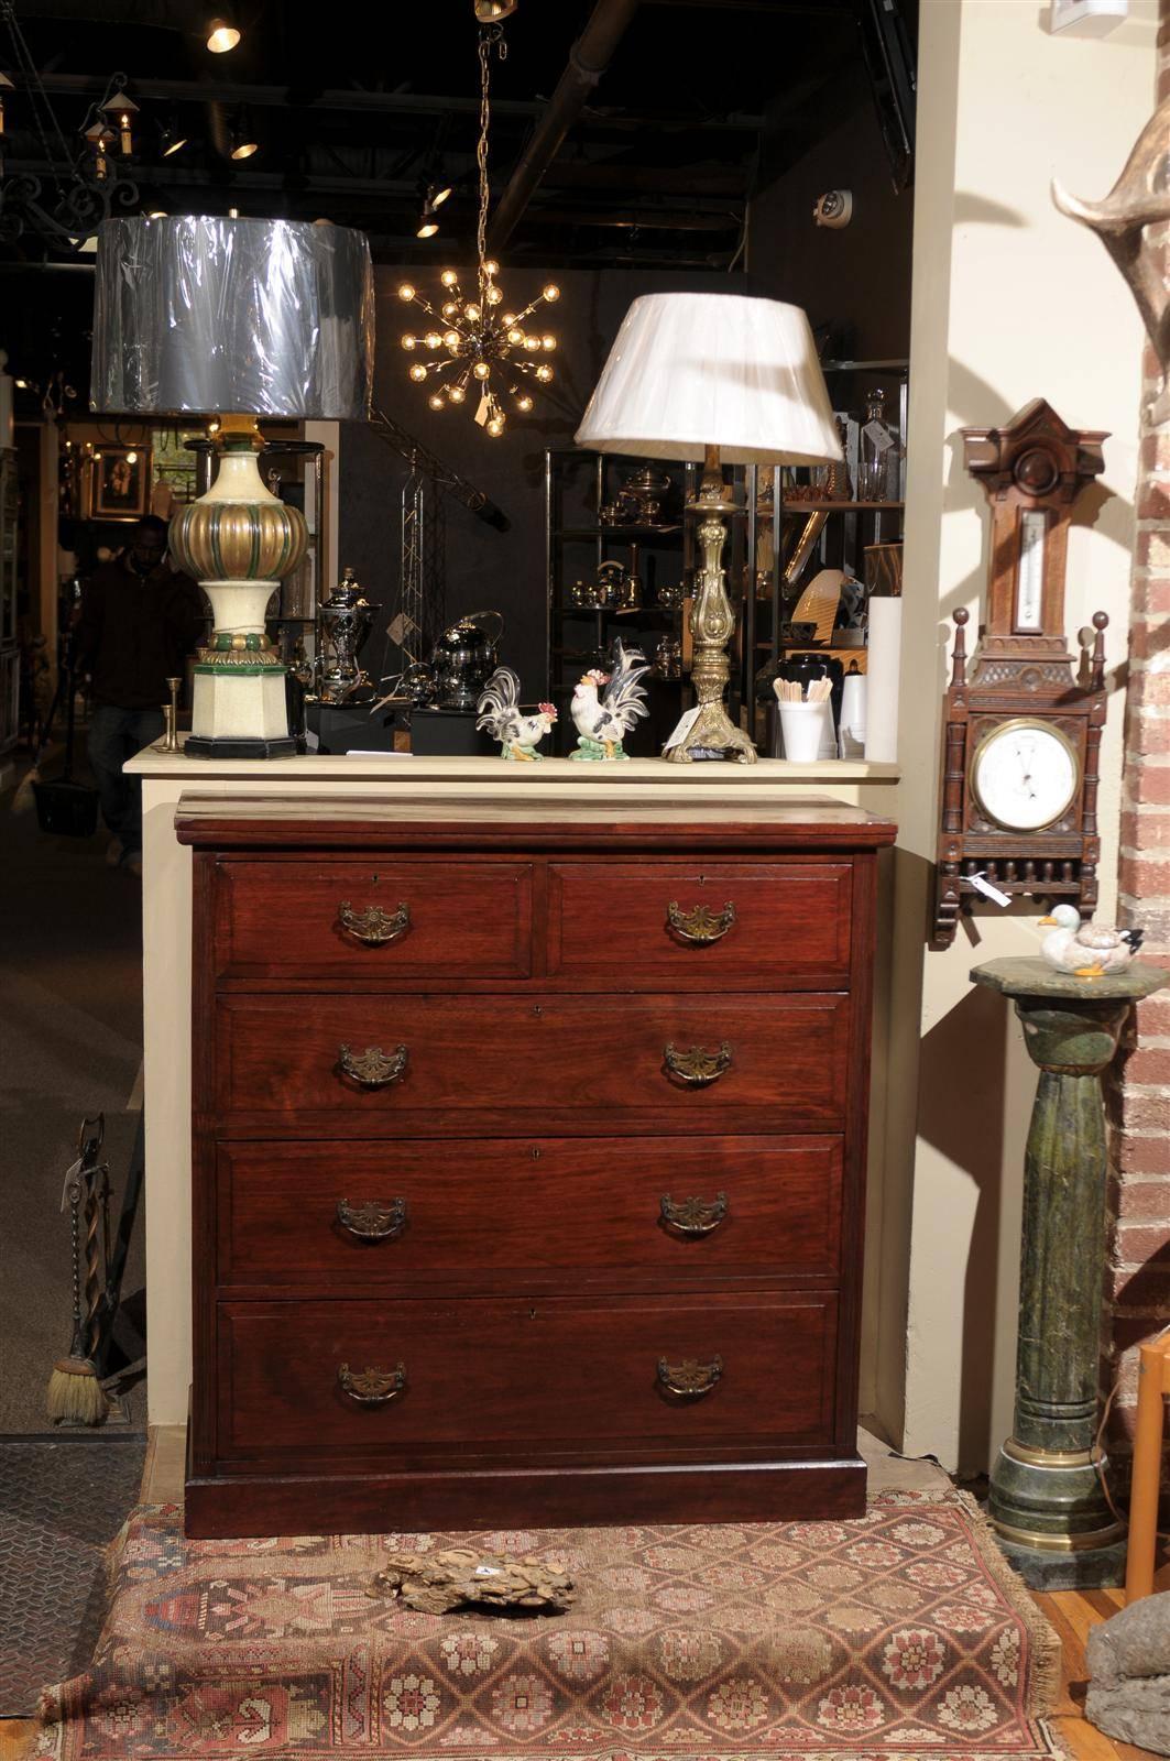
POLYGON ((404 282, 398 298, 405 305, 414 305, 432 321, 432 328, 421 336, 407 333, 402 347, 407 354, 425 349, 430 359, 411 365, 411 379, 423 386, 428 380, 433 389, 426 402, 432 410, 446 410, 448 405, 467 403, 467 393, 478 391, 474 405, 476 421, 485 433, 497 440, 507 424, 502 396, 511 398, 513 410, 522 416, 532 409, 532 396, 525 380, 534 379, 546 386, 553 370, 546 359, 557 347, 552 331, 529 329, 525 321, 552 301, 560 299, 560 289, 550 282, 522 312, 507 308, 504 289, 499 285, 500 266, 488 257, 488 123, 490 123, 490 60, 492 49, 499 49, 504 60, 506 46, 499 25, 485 26, 479 32, 479 146, 476 164, 479 167, 479 220, 476 225, 476 287, 463 291, 458 273, 444 269, 439 276, 442 294, 435 308, 430 299, 419 294, 418 287, 404 282))

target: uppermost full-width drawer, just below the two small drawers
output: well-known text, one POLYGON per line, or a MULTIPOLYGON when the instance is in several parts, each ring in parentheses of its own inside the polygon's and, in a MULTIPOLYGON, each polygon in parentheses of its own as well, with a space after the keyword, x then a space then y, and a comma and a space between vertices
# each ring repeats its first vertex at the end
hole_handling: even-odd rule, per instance
MULTIPOLYGON (((758 1129, 830 1127, 846 1106, 849 998, 250 997, 217 998, 217 1088, 227 1113, 330 1113, 404 1136, 469 1131, 479 1113, 541 1120, 650 1113, 758 1129), (728 1067, 707 1087, 666 1071, 692 1048, 728 1067), (363 1087, 351 1069, 382 1087, 363 1087), (405 1048, 405 1050, 400 1050, 405 1048), (379 1057, 375 1057, 379 1053, 379 1057), (395 1076, 395 1071, 400 1074, 395 1076)), ((733 1127, 728 1127, 733 1129, 733 1127)))

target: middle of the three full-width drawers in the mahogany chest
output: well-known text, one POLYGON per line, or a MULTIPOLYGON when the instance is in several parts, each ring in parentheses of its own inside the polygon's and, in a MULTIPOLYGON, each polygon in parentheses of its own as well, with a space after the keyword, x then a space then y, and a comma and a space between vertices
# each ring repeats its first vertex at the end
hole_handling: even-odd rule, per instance
POLYGON ((839 1138, 220 1143, 217 1175, 220 1286, 627 1291, 839 1270, 839 1138))

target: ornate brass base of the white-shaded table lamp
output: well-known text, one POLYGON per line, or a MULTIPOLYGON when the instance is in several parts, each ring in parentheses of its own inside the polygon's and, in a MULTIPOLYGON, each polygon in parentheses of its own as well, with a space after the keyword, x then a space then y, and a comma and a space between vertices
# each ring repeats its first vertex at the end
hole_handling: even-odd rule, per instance
POLYGON ((742 509, 731 502, 731 488, 722 481, 719 447, 715 446, 707 447, 700 493, 689 507, 703 516, 698 534, 703 567, 696 578, 691 608, 691 636, 694 639, 691 678, 698 697, 698 713, 678 745, 668 748, 666 757, 671 764, 692 764, 696 759, 712 755, 733 759, 737 764, 754 764, 756 747, 744 729, 733 724, 722 701, 731 678, 728 643, 735 632, 735 611, 728 599, 722 569, 722 546, 728 537, 726 516, 735 516, 742 509))

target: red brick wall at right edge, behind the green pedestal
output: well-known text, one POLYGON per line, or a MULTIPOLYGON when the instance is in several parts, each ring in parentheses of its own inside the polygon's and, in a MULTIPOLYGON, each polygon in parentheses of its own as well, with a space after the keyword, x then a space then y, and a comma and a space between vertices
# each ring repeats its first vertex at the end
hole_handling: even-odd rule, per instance
MULTIPOLYGON (((1163 99, 1170 93, 1170 0, 1161 0, 1158 55, 1163 99)), ((1170 227, 1159 234, 1163 275, 1170 278, 1170 227)), ((1147 347, 1144 403, 1156 386, 1158 363, 1147 347)), ((1170 967, 1170 423, 1142 430, 1137 521, 1119 919, 1145 930, 1142 958, 1170 967)), ((1124 1476, 1137 1347, 1170 1326, 1170 991, 1137 1009, 1112 1078, 1110 1120, 1110 1379, 1119 1379, 1110 1449, 1124 1476)))

